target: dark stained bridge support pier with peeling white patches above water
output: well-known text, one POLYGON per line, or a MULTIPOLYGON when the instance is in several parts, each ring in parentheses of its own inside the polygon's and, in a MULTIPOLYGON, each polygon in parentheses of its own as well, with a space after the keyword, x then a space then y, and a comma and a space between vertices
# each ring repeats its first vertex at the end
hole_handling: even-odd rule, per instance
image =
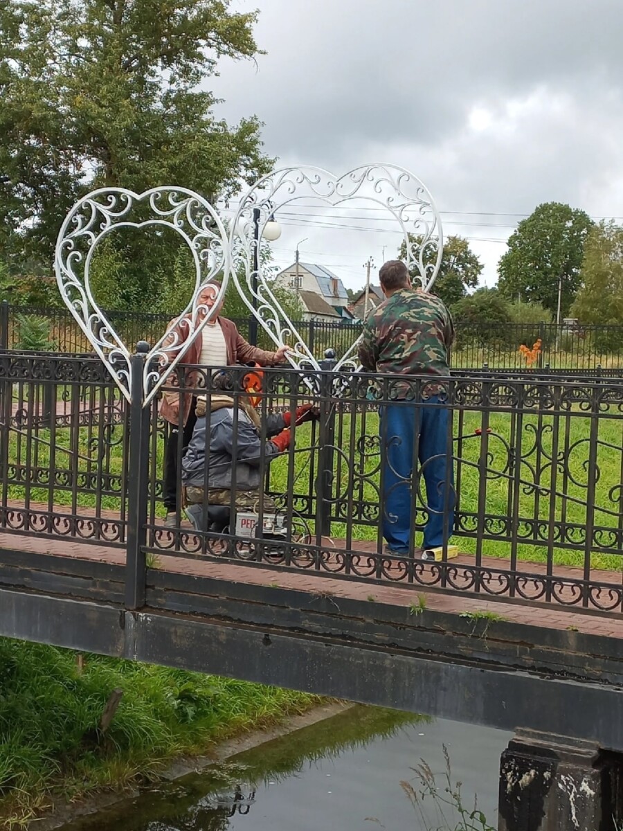
POLYGON ((518 730, 500 764, 498 831, 616 831, 623 756, 590 741, 518 730))

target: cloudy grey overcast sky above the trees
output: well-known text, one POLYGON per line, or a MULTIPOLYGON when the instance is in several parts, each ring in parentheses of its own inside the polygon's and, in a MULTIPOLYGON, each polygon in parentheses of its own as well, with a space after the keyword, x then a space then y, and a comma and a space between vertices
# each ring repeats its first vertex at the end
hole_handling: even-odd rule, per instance
MULTIPOLYGON (((265 150, 279 166, 343 173, 385 161, 412 170, 433 194, 444 234, 470 239, 488 285, 513 226, 537 204, 623 216, 623 0, 233 0, 232 8, 258 5, 255 33, 267 55, 257 66, 223 61, 209 86, 225 99, 220 116, 265 123, 265 150)), ((344 212, 301 214, 282 217, 277 263, 292 263, 308 237, 302 261, 326 264, 351 288, 363 284, 370 255, 378 266, 383 246, 388 259, 400 243, 390 222, 327 229, 321 223, 344 224, 344 212)), ((358 215, 346 211, 348 224, 358 215)))

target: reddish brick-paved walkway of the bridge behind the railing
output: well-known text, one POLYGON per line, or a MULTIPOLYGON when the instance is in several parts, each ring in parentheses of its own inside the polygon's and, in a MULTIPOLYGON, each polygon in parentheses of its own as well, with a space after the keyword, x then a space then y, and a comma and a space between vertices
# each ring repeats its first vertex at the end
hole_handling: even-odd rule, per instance
MULTIPOLYGON (((15 504, 16 508, 23 504, 15 504)), ((45 509, 45 506, 31 505, 31 508, 45 509)), ((65 509, 66 510, 66 509, 65 509)), ((81 509, 85 516, 91 513, 88 509, 81 509)), ((59 508, 59 513, 63 508, 59 508)), ((110 514, 109 519, 118 519, 117 514, 110 514)), ((184 521, 183 529, 190 529, 190 525, 184 521)), ((169 536, 167 532, 167 536, 169 536)), ((339 544, 339 541, 336 541, 339 544)), ((375 550, 374 543, 356 543, 361 553, 375 550)), ((75 557, 85 560, 97 560, 104 563, 125 563, 125 552, 120 548, 112 548, 106 545, 92 545, 82 543, 75 538, 52 538, 52 537, 27 537, 19 534, 0 532, 0 560, 2 559, 2 548, 13 550, 29 551, 32 553, 58 554, 65 557, 75 557)), ((462 563, 473 564, 473 557, 462 554, 452 561, 460 567, 462 563)), ((499 558, 483 558, 483 567, 503 570, 507 561, 499 558)), ((418 585, 392 585, 385 583, 379 585, 370 583, 365 578, 359 580, 341 580, 321 576, 313 572, 295 571, 294 569, 280 569, 249 567, 242 563, 230 563, 219 561, 214 558, 201 557, 179 557, 168 556, 165 553, 158 556, 158 568, 169 572, 193 574, 198 577, 218 578, 233 583, 247 583, 252 585, 277 586, 279 588, 292 588, 316 595, 328 595, 336 598, 352 597, 361 600, 373 600, 395 604, 396 606, 410 606, 411 603, 419 603, 419 597, 424 596, 425 607, 432 611, 469 613, 478 611, 494 612, 501 617, 518 623, 528 623, 542 627, 555 629, 571 629, 578 632, 595 633, 623 637, 623 615, 620 617, 606 617, 593 614, 582 614, 572 612, 560 603, 542 602, 537 607, 527 606, 519 602, 507 600, 499 602, 489 600, 487 596, 456 596, 440 593, 434 589, 426 589, 418 585)), ((429 566, 424 566, 429 570, 429 566)), ((521 563, 522 572, 542 574, 546 567, 542 563, 521 563)), ((561 580, 581 579, 582 573, 578 568, 557 566, 556 576, 561 580)), ((600 583, 611 583, 613 586, 621 586, 621 573, 596 572, 592 574, 593 579, 600 583)))

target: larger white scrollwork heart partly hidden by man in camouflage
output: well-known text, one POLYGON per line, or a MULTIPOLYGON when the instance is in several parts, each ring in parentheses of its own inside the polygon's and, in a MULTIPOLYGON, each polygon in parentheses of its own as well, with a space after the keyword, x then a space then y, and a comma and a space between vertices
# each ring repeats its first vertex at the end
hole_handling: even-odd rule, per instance
MULTIPOLYGON (((428 189, 417 176, 396 165, 363 165, 341 176, 316 167, 282 168, 259 179, 248 190, 240 201, 230 230, 233 281, 249 311, 257 317, 277 346, 282 346, 293 336, 292 365, 312 364, 319 368, 316 357, 272 293, 262 274, 261 263, 256 273, 253 262, 256 241, 261 238, 262 229, 272 214, 278 220, 279 210, 295 199, 321 200, 333 206, 351 199, 368 199, 388 210, 405 235, 407 264, 410 268, 416 268, 425 291, 432 287, 439 272, 443 232, 439 213, 428 189), (244 273, 244 291, 239 283, 238 268, 244 273), (256 307, 248 297, 255 297, 256 307)), ((354 358, 358 343, 355 342, 341 357, 336 369, 359 368, 354 358)))

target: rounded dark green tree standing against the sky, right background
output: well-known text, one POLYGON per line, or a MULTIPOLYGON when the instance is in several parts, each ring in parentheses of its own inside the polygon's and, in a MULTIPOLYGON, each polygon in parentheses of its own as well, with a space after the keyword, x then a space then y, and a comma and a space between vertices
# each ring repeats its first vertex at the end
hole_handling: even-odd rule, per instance
POLYGON ((537 302, 557 313, 561 281, 561 312, 565 316, 580 288, 586 237, 594 223, 583 210, 546 202, 522 219, 498 263, 499 289, 509 298, 537 302))

